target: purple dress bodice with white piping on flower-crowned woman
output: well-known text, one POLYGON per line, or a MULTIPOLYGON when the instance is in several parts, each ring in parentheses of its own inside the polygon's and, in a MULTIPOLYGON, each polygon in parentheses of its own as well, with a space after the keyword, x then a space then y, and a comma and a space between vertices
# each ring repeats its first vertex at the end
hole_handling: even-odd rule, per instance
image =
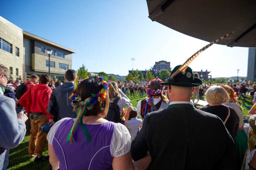
POLYGON ((88 143, 80 125, 77 126, 72 144, 67 137, 74 119, 64 120, 56 131, 52 146, 62 169, 108 170, 112 168, 110 144, 116 123, 85 124, 92 142, 88 143))

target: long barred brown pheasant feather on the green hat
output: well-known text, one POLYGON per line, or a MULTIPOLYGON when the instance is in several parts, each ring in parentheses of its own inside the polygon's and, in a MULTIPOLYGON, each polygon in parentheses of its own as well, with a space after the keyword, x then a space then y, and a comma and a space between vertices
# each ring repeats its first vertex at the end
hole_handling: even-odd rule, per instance
MULTIPOLYGON (((234 31, 232 32, 234 33, 234 31)), ((218 41, 222 40, 223 38, 227 37, 228 35, 232 34, 232 33, 229 33, 229 34, 226 34, 225 36, 223 37, 220 37, 219 39, 215 40, 215 41, 212 41, 210 44, 204 46, 203 48, 201 48, 200 50, 198 50, 195 54, 193 54, 191 57, 188 58, 188 60, 182 64, 178 70, 176 70, 172 75, 171 77, 174 78, 177 74, 179 74, 180 72, 182 71, 185 71, 188 67, 188 65, 201 53, 203 52, 204 50, 206 50, 207 48, 211 47, 213 44, 217 43, 218 41)))

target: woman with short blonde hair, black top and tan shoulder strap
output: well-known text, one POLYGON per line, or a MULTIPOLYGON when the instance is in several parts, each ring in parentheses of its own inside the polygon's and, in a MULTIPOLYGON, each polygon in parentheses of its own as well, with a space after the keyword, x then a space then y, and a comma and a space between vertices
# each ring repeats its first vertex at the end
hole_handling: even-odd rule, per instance
POLYGON ((206 91, 205 99, 209 105, 200 110, 219 116, 232 138, 235 139, 239 127, 239 117, 233 108, 222 105, 229 100, 226 90, 221 86, 212 86, 206 91))

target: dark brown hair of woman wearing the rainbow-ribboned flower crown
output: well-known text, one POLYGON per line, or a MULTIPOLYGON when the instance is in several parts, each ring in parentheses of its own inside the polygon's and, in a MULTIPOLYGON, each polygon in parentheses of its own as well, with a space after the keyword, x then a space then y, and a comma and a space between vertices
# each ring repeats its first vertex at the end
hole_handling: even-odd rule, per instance
MULTIPOLYGON (((82 81, 76 89, 76 94, 81 97, 82 100, 85 100, 91 97, 91 94, 97 94, 103 88, 101 82, 94 78, 88 78, 82 81)), ((106 98, 97 104, 94 105, 92 110, 87 110, 85 116, 97 116, 98 114, 106 115, 108 113, 109 107, 109 97, 108 92, 106 98)), ((77 109, 74 109, 77 111, 77 109)))

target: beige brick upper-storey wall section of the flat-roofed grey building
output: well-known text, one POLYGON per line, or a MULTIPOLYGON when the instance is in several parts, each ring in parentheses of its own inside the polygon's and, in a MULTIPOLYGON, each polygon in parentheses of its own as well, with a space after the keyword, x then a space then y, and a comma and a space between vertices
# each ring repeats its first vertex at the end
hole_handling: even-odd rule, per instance
MULTIPOLYGON (((49 60, 48 56, 40 54, 32 54, 32 70, 38 72, 48 73, 49 67, 46 67, 46 60, 49 60)), ((50 61, 55 62, 55 68, 51 67, 51 73, 55 74, 65 74, 64 69, 59 69, 59 63, 68 64, 68 69, 70 69, 72 62, 65 61, 63 59, 50 58, 50 61)))

